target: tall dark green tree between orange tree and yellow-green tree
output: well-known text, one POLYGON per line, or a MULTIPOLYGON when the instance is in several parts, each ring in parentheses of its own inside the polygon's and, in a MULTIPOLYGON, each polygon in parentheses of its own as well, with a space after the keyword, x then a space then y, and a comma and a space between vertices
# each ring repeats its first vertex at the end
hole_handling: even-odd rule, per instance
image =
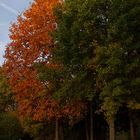
POLYGON ((58 46, 54 48, 53 60, 63 67, 63 82, 56 96, 65 101, 80 99, 90 102, 92 140, 93 108, 95 99, 98 100, 95 98, 98 90, 95 85, 96 73, 90 61, 94 55, 93 44, 104 41, 105 29, 98 19, 100 13, 97 13, 94 0, 67 0, 63 8, 55 11, 57 30, 54 36, 58 46))

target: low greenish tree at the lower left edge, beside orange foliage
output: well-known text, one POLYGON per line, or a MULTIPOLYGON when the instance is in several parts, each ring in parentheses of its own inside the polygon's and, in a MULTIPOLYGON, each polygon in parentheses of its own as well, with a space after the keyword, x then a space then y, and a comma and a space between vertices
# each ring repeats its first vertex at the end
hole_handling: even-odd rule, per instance
POLYGON ((22 127, 16 116, 16 102, 7 82, 7 77, 0 68, 0 139, 18 140, 22 137, 22 127))

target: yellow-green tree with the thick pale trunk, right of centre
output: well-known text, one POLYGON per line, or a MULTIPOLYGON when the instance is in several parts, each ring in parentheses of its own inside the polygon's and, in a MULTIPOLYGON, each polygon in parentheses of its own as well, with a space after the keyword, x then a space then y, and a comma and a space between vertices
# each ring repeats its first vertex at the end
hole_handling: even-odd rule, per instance
POLYGON ((108 47, 97 47, 96 50, 96 71, 97 85, 101 93, 101 112, 109 124, 110 140, 115 139, 115 118, 122 106, 126 94, 123 86, 123 62, 122 49, 117 45, 108 47))

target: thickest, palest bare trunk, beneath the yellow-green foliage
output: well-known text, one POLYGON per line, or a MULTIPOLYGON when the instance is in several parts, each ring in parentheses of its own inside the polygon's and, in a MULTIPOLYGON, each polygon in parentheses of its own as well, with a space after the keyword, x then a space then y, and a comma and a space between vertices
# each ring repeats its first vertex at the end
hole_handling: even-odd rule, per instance
POLYGON ((109 121, 109 140, 115 140, 115 124, 113 119, 109 121))

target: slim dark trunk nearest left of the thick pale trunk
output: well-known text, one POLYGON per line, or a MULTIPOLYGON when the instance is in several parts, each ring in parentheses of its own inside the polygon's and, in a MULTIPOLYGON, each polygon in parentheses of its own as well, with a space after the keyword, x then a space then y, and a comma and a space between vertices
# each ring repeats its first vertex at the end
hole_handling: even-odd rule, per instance
POLYGON ((93 140, 93 108, 90 106, 90 140, 93 140))

